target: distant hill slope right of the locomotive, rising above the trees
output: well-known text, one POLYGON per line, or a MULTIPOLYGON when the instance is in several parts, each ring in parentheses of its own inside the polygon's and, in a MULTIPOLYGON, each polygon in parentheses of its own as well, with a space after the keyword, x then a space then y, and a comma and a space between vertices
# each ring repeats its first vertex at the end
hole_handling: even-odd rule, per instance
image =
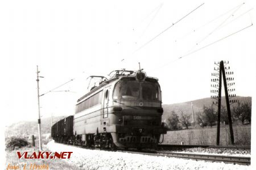
MULTIPOLYGON (((245 101, 251 101, 251 97, 237 96, 237 97, 233 97, 232 100, 239 100, 240 102, 243 103, 245 101)), ((164 112, 163 112, 162 120, 166 120, 169 117, 171 111, 175 111, 175 113, 177 113, 179 116, 181 114, 181 111, 184 114, 192 114, 191 103, 193 103, 193 112, 194 113, 202 112, 204 105, 206 107, 209 107, 210 105, 212 105, 213 101, 217 101, 217 100, 210 99, 210 98, 204 98, 204 99, 198 99, 198 100, 193 100, 193 101, 187 101, 184 103, 163 104, 162 107, 163 107, 164 112)), ((226 99, 224 96, 221 97, 221 105, 226 107, 226 99)), ((230 107, 232 108, 232 105, 230 107)), ((195 116, 195 114, 194 114, 194 116, 195 116)))

